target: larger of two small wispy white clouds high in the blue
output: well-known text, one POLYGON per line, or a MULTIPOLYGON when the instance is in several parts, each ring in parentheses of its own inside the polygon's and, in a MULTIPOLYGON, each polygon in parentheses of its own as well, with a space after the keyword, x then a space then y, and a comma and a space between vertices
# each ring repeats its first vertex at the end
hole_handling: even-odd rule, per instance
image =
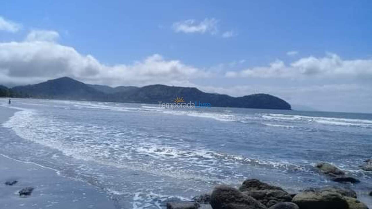
POLYGON ((175 22, 173 23, 173 30, 175 32, 183 32, 183 33, 206 33, 209 32, 212 35, 217 34, 218 32, 218 20, 211 18, 211 19, 204 19, 201 22, 198 22, 193 19, 175 22))

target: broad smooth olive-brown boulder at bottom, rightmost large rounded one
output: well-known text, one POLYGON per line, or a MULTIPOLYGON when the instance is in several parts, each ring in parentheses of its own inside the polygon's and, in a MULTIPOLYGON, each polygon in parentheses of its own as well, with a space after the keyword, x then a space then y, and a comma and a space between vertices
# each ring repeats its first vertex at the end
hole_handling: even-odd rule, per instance
POLYGON ((346 199, 337 192, 300 192, 292 202, 301 209, 348 209, 346 199))

